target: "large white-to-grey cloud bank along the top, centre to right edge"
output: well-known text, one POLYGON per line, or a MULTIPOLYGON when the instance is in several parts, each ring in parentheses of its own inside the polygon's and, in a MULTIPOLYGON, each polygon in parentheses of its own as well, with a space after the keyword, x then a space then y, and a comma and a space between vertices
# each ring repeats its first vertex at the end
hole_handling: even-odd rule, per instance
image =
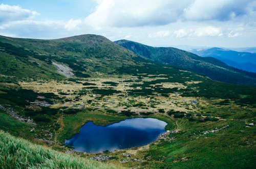
POLYGON ((248 16, 251 0, 100 0, 86 21, 95 28, 167 25, 178 20, 232 20, 248 16))

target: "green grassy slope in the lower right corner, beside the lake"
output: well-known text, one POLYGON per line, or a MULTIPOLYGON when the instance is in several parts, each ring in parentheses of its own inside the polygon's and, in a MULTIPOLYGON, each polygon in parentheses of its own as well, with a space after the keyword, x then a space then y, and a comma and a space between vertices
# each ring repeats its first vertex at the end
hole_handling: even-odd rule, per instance
POLYGON ((179 123, 183 128, 179 133, 170 135, 175 137, 174 140, 153 144, 147 151, 145 156, 151 156, 148 168, 254 168, 254 128, 245 128, 244 122, 236 120, 203 123, 201 127, 185 119, 179 123), (227 124, 230 127, 219 132, 201 134, 227 124))

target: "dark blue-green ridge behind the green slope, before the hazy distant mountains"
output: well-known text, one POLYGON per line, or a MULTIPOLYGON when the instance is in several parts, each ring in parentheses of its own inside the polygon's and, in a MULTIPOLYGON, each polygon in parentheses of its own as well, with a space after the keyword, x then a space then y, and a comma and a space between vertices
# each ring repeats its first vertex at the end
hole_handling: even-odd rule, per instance
POLYGON ((222 82, 255 85, 256 74, 233 68, 212 57, 203 58, 174 47, 152 47, 129 40, 118 40, 115 43, 157 63, 194 71, 222 82))

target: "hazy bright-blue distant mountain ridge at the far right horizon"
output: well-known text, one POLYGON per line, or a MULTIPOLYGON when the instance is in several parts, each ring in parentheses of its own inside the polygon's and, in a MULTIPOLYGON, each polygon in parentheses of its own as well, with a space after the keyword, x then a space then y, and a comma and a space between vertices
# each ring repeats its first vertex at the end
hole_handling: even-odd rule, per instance
POLYGON ((191 53, 201 57, 214 57, 229 66, 256 73, 256 53, 236 52, 218 47, 193 50, 191 53))

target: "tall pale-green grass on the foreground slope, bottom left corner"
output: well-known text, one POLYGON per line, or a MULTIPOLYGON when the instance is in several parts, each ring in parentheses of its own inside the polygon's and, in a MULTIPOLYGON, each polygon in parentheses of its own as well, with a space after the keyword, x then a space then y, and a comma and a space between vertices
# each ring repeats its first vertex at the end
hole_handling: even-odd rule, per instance
POLYGON ((0 167, 9 168, 117 168, 60 153, 16 138, 0 130, 0 167))

